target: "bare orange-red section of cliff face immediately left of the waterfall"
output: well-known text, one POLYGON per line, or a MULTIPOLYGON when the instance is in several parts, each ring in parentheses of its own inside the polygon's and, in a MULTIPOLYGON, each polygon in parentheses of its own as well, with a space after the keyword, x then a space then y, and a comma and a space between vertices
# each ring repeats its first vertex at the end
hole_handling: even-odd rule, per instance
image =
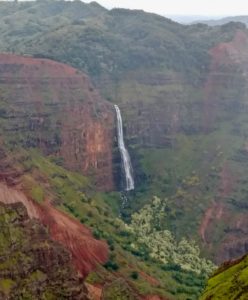
POLYGON ((114 119, 109 105, 100 101, 71 105, 64 113, 68 118, 62 123, 60 152, 66 167, 86 175, 95 170, 95 176, 89 174, 96 178, 94 184, 101 190, 113 189, 114 119), (95 110, 100 111, 98 117, 95 110))

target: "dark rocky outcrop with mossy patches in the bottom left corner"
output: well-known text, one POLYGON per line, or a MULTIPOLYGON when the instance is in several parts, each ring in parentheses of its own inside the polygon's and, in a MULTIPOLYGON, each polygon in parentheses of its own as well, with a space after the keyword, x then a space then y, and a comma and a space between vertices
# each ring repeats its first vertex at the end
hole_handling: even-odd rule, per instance
POLYGON ((88 299, 71 256, 20 203, 0 204, 1 299, 88 299))

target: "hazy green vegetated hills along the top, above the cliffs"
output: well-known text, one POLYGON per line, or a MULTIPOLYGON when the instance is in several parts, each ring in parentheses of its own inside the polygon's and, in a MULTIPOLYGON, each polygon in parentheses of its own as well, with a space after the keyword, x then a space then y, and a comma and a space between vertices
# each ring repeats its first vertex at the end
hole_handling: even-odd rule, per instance
POLYGON ((142 11, 108 11, 94 2, 1 1, 0 10, 1 51, 52 58, 114 80, 140 68, 197 75, 208 66, 207 49, 233 35, 233 28, 186 27, 142 11))

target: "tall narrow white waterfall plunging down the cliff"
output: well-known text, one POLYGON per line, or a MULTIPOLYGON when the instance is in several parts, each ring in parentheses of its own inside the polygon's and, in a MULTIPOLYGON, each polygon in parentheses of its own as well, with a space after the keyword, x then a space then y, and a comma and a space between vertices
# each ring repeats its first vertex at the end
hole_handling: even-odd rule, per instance
POLYGON ((116 117, 117 117, 117 134, 118 134, 118 147, 121 153, 121 160, 124 168, 125 182, 126 182, 126 191, 131 191, 134 189, 134 179, 132 175, 132 164, 130 155, 125 146, 124 137, 123 137, 123 125, 121 111, 117 105, 115 105, 116 117))

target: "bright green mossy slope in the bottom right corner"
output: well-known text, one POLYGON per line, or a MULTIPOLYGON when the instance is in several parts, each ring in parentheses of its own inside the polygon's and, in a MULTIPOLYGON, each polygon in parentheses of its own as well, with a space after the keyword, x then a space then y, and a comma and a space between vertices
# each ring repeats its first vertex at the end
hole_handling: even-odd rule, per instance
POLYGON ((201 300, 247 299, 248 258, 224 263, 209 279, 201 300))

